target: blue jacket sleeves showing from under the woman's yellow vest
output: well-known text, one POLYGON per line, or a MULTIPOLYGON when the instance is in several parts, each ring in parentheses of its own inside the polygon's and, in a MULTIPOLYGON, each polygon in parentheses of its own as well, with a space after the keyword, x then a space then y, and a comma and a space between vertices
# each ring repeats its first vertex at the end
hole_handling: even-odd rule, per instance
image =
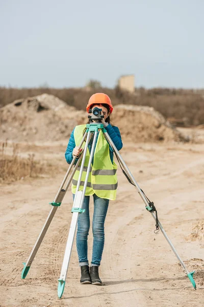
MULTIPOLYGON (((66 158, 66 161, 67 161, 68 164, 70 164, 72 159, 73 159, 72 151, 73 151, 74 147, 76 146, 75 140, 74 140, 74 129, 71 133, 69 143, 67 145, 67 149, 66 149, 66 152, 65 152, 65 158, 66 158)), ((120 150, 122 148, 122 140, 121 140, 120 131, 119 131, 118 127, 111 126, 111 124, 109 124, 106 127, 106 130, 107 130, 111 140, 113 141, 114 145, 116 146, 117 150, 120 150)), ((97 138, 98 138, 98 135, 97 135, 97 138)), ((97 140, 96 140, 96 143, 97 143, 97 140)), ((88 145, 89 152, 91 151, 91 146, 92 146, 92 143, 89 142, 89 145, 88 145)), ((95 148, 94 148, 94 151, 95 151, 95 148)), ((110 151, 111 162, 113 163, 113 149, 112 149, 111 146, 109 147, 109 151, 110 151)), ((94 156, 93 156, 93 159, 94 159, 94 156)), ((77 163, 77 159, 76 159, 75 163, 77 163)), ((92 160, 92 165, 93 165, 93 160, 92 160)))

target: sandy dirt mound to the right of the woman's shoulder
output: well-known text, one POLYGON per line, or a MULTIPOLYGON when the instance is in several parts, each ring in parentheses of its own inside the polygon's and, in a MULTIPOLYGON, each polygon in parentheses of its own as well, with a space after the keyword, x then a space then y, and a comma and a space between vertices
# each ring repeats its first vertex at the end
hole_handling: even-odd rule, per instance
POLYGON ((113 122, 123 137, 134 142, 189 141, 153 107, 116 105, 113 122))

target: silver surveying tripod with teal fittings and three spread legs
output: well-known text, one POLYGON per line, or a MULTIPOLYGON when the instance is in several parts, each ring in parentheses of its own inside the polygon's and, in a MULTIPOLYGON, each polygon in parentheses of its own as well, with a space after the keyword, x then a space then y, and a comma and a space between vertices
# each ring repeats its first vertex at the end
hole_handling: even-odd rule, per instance
POLYGON ((74 176, 75 171, 78 169, 79 164, 81 162, 80 165, 80 173, 79 173, 79 179, 78 179, 78 183, 77 183, 77 189, 75 192, 75 197, 74 197, 74 202, 73 202, 73 207, 71 209, 72 212, 72 219, 71 219, 71 224, 70 224, 70 229, 69 229, 69 234, 68 234, 68 239, 67 239, 67 244, 66 244, 66 249, 65 249, 65 254, 64 254, 64 259, 63 259, 63 264, 62 264, 62 269, 61 269, 61 274, 60 274, 60 278, 59 280, 59 284, 58 284, 58 297, 61 298, 64 292, 64 287, 65 287, 65 280, 66 280, 66 275, 67 275, 67 270, 68 270, 68 266, 69 266, 69 260, 70 260, 70 256, 71 256, 71 250, 72 250, 72 245, 73 245, 73 240, 74 240, 74 235, 75 235, 75 230, 77 228, 77 222, 78 222, 78 216, 79 214, 83 214, 83 212, 85 211, 83 209, 83 203, 84 203, 84 197, 85 197, 85 192, 86 192, 86 187, 87 187, 87 183, 88 183, 88 177, 89 177, 89 172, 91 169, 91 162, 92 162, 92 158, 94 155, 94 149, 95 149, 95 145, 96 145, 96 138, 97 138, 97 133, 98 130, 101 129, 101 131, 103 132, 107 142, 109 143, 109 145, 112 147, 112 149, 115 152, 115 155, 118 159, 118 162, 122 168, 123 173, 125 174, 127 180, 133 184, 135 186, 135 188, 137 189, 138 193, 140 194, 143 202, 145 203, 145 207, 147 209, 147 211, 149 211, 152 215, 152 217, 154 218, 154 220, 156 221, 156 228, 157 231, 159 231, 159 229, 162 231, 164 237, 166 238, 168 244, 170 245, 171 249, 173 250, 174 254, 176 255, 177 259, 180 261, 182 267, 184 268, 184 270, 186 271, 187 276, 189 277, 194 289, 196 289, 196 284, 195 281, 193 279, 193 274, 195 271, 193 272, 189 272, 188 269, 186 268, 184 262, 182 261, 182 259, 180 258, 179 254, 177 253, 177 251, 175 250, 173 244, 171 243, 169 237, 167 236, 165 230, 163 229, 161 223, 158 220, 158 216, 157 216, 157 210, 154 206, 153 202, 150 202, 147 198, 147 196, 144 194, 144 192, 140 189, 139 185, 137 184, 137 182, 135 181, 133 175, 131 174, 129 168, 126 166, 124 160, 122 159, 119 151, 117 150, 116 146, 114 145, 112 139, 110 138, 109 134, 107 133, 107 130, 104 128, 104 125, 99 123, 90 123, 86 125, 86 132, 82 138, 82 141, 80 143, 80 148, 82 149, 81 155, 77 161, 77 163, 75 164, 70 177, 65 185, 65 182, 68 178, 68 174, 71 171, 71 167, 74 165, 75 160, 77 159, 77 157, 74 156, 67 172, 66 175, 62 181, 62 184, 57 192, 57 195, 54 199, 54 201, 52 203, 49 203, 50 205, 53 206, 53 208, 50 210, 48 217, 46 219, 46 222, 38 236, 38 239, 33 247, 33 250, 27 260, 27 262, 23 262, 24 268, 22 270, 21 273, 21 278, 24 279, 28 272, 29 269, 32 265, 32 262, 35 258, 35 255, 40 247, 40 244, 42 243, 42 240, 46 234, 46 231, 50 225, 50 223, 53 220, 53 217, 57 211, 57 208, 61 205, 62 200, 65 196, 65 193, 72 181, 72 178, 74 176), (80 191, 80 183, 81 183, 81 178, 82 178, 82 173, 83 173, 83 169, 84 169, 84 164, 85 164, 85 158, 86 158, 86 153, 88 150, 88 144, 89 141, 91 139, 91 137, 93 136, 93 143, 92 143, 92 147, 91 147, 91 152, 90 152, 90 158, 89 158, 89 162, 88 162, 88 167, 86 170, 86 178, 85 178, 85 182, 84 182, 84 188, 83 191, 80 191), (84 146, 84 141, 85 142, 85 146, 84 146), (65 188, 64 188, 65 186, 65 188))

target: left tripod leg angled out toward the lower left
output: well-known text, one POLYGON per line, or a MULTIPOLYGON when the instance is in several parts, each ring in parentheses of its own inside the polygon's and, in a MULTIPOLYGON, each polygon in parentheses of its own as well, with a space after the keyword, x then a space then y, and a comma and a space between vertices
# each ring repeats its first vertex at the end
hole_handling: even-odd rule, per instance
MULTIPOLYGON (((85 133, 85 135, 84 135, 84 137, 82 139, 82 142, 80 143, 80 147, 84 143, 84 140, 85 140, 86 136, 87 136, 87 133, 85 133)), ((62 203, 64 195, 65 195, 65 193, 66 193, 66 191, 68 189, 68 186, 69 186, 69 184, 70 184, 70 182, 71 182, 71 180, 73 178, 73 175, 74 175, 75 171, 77 170, 77 168, 78 168, 78 166, 80 164, 80 161, 81 161, 82 157, 83 157, 83 153, 80 156, 77 164, 75 165, 75 167, 74 167, 74 169, 73 169, 73 171, 71 173, 71 176, 70 176, 69 181, 68 181, 68 183, 66 185, 66 188, 63 189, 63 186, 64 186, 64 184, 66 182, 67 177, 68 177, 68 174, 69 174, 72 166, 74 165, 76 157, 73 158, 73 160, 72 160, 72 162, 71 162, 71 164, 70 164, 70 166, 69 166, 69 168, 68 168, 68 170, 66 172, 66 175, 65 175, 65 177, 64 177, 64 179, 63 179, 63 181, 61 183, 61 186, 60 186, 60 188, 59 188, 59 190, 57 192, 57 195, 55 196, 55 200, 52 203, 50 203, 51 205, 53 205, 53 208, 50 210, 50 212, 49 212, 49 214, 47 216, 46 222, 45 222, 45 224, 44 224, 44 226, 43 226, 43 228, 42 228, 42 230, 41 230, 41 232, 40 232, 40 234, 39 234, 39 236, 38 236, 38 238, 36 240, 36 243, 35 243, 35 245, 34 245, 34 247, 32 249, 32 252, 31 252, 27 262, 23 262, 24 268, 23 268, 22 273, 21 273, 21 278, 22 279, 24 279, 27 276, 27 274, 28 274, 28 272, 30 270, 30 267, 31 267, 32 262, 33 262, 33 260, 35 258, 35 255, 36 255, 36 253, 37 253, 37 251, 38 251, 38 249, 39 249, 39 247, 40 247, 40 245, 42 243, 42 240, 43 240, 43 238, 44 238, 44 236, 45 236, 45 234, 47 232, 47 229, 48 229, 50 223, 53 220, 53 217, 54 217, 54 215, 55 215, 55 213, 57 211, 57 208, 62 203)))

